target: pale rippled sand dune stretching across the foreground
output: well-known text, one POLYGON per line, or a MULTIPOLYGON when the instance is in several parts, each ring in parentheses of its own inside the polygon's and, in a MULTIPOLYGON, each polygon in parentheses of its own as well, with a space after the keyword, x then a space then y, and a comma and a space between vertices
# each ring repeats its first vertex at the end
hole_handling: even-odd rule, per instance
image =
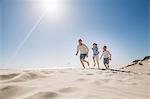
POLYGON ((0 99, 150 99, 150 61, 118 70, 0 70, 0 99))

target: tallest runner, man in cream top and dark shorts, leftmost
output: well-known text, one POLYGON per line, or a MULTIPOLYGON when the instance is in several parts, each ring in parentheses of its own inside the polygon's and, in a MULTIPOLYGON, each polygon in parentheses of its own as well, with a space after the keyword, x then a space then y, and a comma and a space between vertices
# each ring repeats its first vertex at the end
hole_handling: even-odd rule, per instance
POLYGON ((85 68, 84 63, 87 63, 87 65, 89 66, 89 62, 87 60, 85 60, 85 58, 88 57, 89 49, 84 43, 82 43, 82 39, 79 39, 78 43, 79 43, 79 45, 77 46, 76 56, 78 55, 78 53, 80 51, 80 62, 82 64, 83 68, 85 68))

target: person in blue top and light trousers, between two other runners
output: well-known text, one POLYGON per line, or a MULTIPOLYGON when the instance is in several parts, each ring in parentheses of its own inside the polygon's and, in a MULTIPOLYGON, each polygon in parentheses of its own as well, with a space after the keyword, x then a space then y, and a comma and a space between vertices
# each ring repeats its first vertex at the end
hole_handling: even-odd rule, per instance
POLYGON ((92 50, 93 50, 93 62, 94 62, 94 67, 95 67, 95 65, 96 65, 96 63, 97 63, 98 69, 100 69, 100 68, 99 68, 99 51, 98 51, 98 47, 97 47, 97 44, 96 44, 96 43, 93 43, 93 48, 92 48, 92 50), (96 61, 96 62, 95 62, 95 61, 96 61))

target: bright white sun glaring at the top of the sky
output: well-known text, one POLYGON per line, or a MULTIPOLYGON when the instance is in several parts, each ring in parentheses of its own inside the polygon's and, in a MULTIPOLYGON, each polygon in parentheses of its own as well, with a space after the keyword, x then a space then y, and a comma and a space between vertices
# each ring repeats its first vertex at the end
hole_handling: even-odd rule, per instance
POLYGON ((67 15, 67 0, 37 0, 36 2, 38 13, 44 13, 46 19, 63 20, 67 15))

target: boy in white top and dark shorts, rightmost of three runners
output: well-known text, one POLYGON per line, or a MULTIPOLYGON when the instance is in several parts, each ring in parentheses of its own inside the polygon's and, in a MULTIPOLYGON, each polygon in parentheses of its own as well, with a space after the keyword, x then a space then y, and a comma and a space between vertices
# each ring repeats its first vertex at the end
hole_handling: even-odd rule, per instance
POLYGON ((104 58, 103 63, 104 63, 104 65, 105 65, 106 69, 109 69, 109 60, 111 60, 111 54, 110 54, 110 52, 107 50, 107 46, 104 46, 104 47, 103 47, 103 53, 102 53, 100 59, 101 59, 102 57, 104 58))

